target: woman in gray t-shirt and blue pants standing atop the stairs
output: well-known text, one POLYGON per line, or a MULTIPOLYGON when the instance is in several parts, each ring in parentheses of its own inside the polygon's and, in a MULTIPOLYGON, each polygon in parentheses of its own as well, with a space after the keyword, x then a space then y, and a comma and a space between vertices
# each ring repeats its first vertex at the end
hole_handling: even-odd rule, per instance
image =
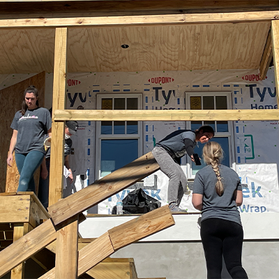
POLYGON ((20 181, 17 192, 33 191, 36 193, 33 174, 45 156, 43 142, 51 132, 52 119, 50 112, 38 106, 38 90, 29 86, 24 91, 22 110, 16 112, 10 128, 13 136, 10 140, 7 163, 13 163, 13 151, 20 181))

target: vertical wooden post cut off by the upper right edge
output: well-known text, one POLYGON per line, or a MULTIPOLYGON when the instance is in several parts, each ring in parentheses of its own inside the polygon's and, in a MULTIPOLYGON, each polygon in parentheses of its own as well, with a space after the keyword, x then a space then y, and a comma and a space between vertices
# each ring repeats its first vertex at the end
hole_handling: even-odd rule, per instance
POLYGON ((277 92, 277 104, 279 105, 279 21, 271 21, 271 36, 272 36, 272 49, 273 49, 273 62, 274 62, 274 72, 275 72, 275 82, 276 82, 276 92, 277 92))

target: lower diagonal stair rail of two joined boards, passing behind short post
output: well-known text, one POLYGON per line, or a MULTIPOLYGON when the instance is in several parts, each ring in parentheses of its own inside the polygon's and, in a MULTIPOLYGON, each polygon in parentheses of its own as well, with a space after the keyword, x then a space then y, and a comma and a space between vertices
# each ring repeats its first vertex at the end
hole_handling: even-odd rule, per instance
MULTIPOLYGON (((169 206, 166 205, 110 229, 80 250, 77 276, 81 276, 103 259, 112 255, 114 250, 123 248, 172 225, 174 225, 174 218, 169 211, 169 206)), ((45 273, 39 279, 54 278, 54 269, 45 273)))

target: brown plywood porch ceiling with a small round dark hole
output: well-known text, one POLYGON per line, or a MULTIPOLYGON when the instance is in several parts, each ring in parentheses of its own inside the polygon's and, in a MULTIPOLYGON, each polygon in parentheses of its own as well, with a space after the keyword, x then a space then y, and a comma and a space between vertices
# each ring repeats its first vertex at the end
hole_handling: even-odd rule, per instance
MULTIPOLYGON (((68 72, 259 68, 270 25, 69 28, 68 72)), ((52 73, 54 36, 48 28, 1 29, 0 73, 52 73)))

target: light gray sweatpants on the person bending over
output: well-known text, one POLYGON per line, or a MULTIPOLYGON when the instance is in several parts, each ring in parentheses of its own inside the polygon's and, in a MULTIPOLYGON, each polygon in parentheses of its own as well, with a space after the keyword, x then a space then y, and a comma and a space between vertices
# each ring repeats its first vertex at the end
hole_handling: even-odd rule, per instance
POLYGON ((159 164, 161 171, 169 178, 167 201, 169 204, 177 202, 179 205, 187 188, 186 175, 181 169, 181 166, 174 162, 172 156, 170 156, 163 147, 155 146, 152 153, 159 164))

